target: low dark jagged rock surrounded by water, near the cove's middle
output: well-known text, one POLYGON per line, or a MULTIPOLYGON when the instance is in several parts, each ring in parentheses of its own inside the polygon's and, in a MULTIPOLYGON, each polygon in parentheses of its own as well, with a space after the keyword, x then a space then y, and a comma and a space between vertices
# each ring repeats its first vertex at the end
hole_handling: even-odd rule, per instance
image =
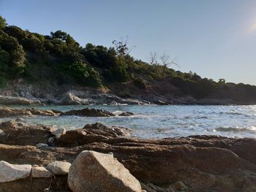
POLYGON ((83 110, 71 110, 68 112, 63 112, 61 115, 78 115, 85 117, 110 117, 115 116, 112 112, 106 110, 97 110, 97 109, 83 109, 83 110))

